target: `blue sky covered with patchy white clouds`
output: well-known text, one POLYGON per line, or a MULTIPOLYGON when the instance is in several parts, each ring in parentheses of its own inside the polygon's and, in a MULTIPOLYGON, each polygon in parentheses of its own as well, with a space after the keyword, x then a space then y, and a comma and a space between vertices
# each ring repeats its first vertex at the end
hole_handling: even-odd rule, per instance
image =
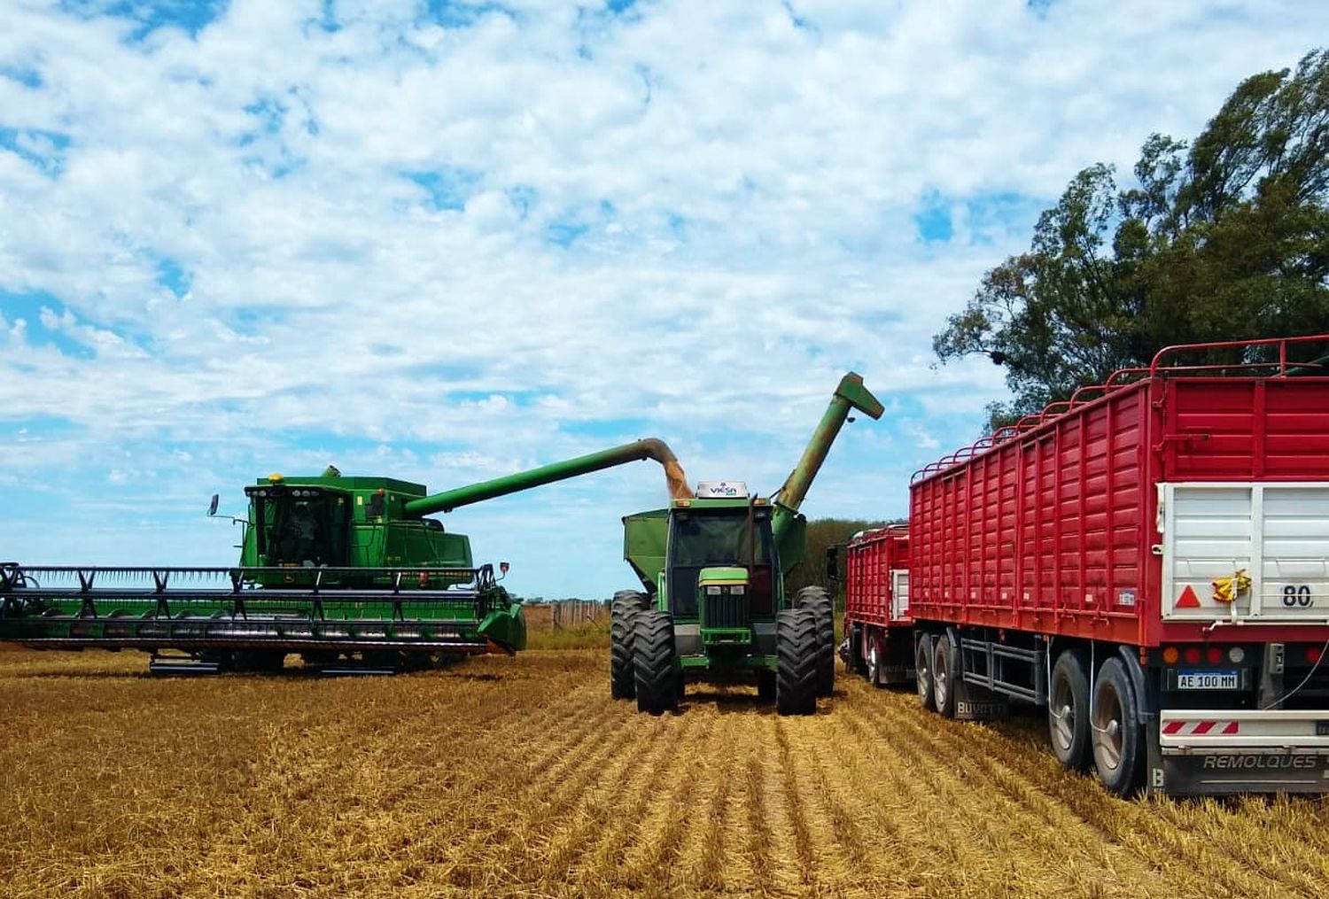
MULTIPOLYGON (((233 564, 270 471, 443 490, 659 437, 904 515, 1006 398, 932 336, 1329 4, 0 0, 0 560, 233 564)), ((651 462, 461 509, 525 596, 634 586, 651 462)))

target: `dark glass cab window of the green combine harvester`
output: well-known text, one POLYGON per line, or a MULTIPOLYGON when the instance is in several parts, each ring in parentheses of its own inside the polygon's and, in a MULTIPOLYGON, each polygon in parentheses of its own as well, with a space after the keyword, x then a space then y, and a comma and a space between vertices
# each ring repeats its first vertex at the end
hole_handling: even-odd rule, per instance
POLYGON ((347 564, 347 506, 339 494, 311 489, 247 490, 256 540, 270 566, 347 564))

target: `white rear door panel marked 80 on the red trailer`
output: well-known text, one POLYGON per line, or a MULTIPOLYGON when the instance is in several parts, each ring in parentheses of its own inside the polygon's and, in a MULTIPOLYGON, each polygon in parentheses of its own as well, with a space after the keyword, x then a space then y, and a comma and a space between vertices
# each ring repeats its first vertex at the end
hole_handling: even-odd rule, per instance
POLYGON ((1329 623, 1329 483, 1158 486, 1166 620, 1329 623))

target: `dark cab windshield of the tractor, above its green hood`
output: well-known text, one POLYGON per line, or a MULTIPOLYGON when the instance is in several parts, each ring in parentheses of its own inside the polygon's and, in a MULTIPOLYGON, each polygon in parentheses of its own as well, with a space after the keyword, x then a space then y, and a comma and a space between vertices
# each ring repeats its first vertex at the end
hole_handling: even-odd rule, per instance
POLYGON ((684 617, 696 615, 702 568, 734 566, 748 570, 752 611, 763 613, 771 600, 771 556, 768 507, 675 513, 668 542, 670 610, 684 617))

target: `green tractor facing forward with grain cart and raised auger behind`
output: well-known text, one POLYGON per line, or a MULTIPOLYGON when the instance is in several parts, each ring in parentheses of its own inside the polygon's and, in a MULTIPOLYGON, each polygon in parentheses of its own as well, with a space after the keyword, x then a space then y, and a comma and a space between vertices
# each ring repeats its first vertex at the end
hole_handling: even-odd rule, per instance
POLYGON ((623 518, 623 556, 643 591, 614 596, 610 685, 617 698, 659 714, 692 680, 751 681, 780 714, 808 714, 835 685, 831 598, 819 587, 784 595, 803 558, 799 506, 836 434, 857 409, 881 404, 851 372, 803 458, 771 498, 736 481, 699 483, 696 497, 623 518))

